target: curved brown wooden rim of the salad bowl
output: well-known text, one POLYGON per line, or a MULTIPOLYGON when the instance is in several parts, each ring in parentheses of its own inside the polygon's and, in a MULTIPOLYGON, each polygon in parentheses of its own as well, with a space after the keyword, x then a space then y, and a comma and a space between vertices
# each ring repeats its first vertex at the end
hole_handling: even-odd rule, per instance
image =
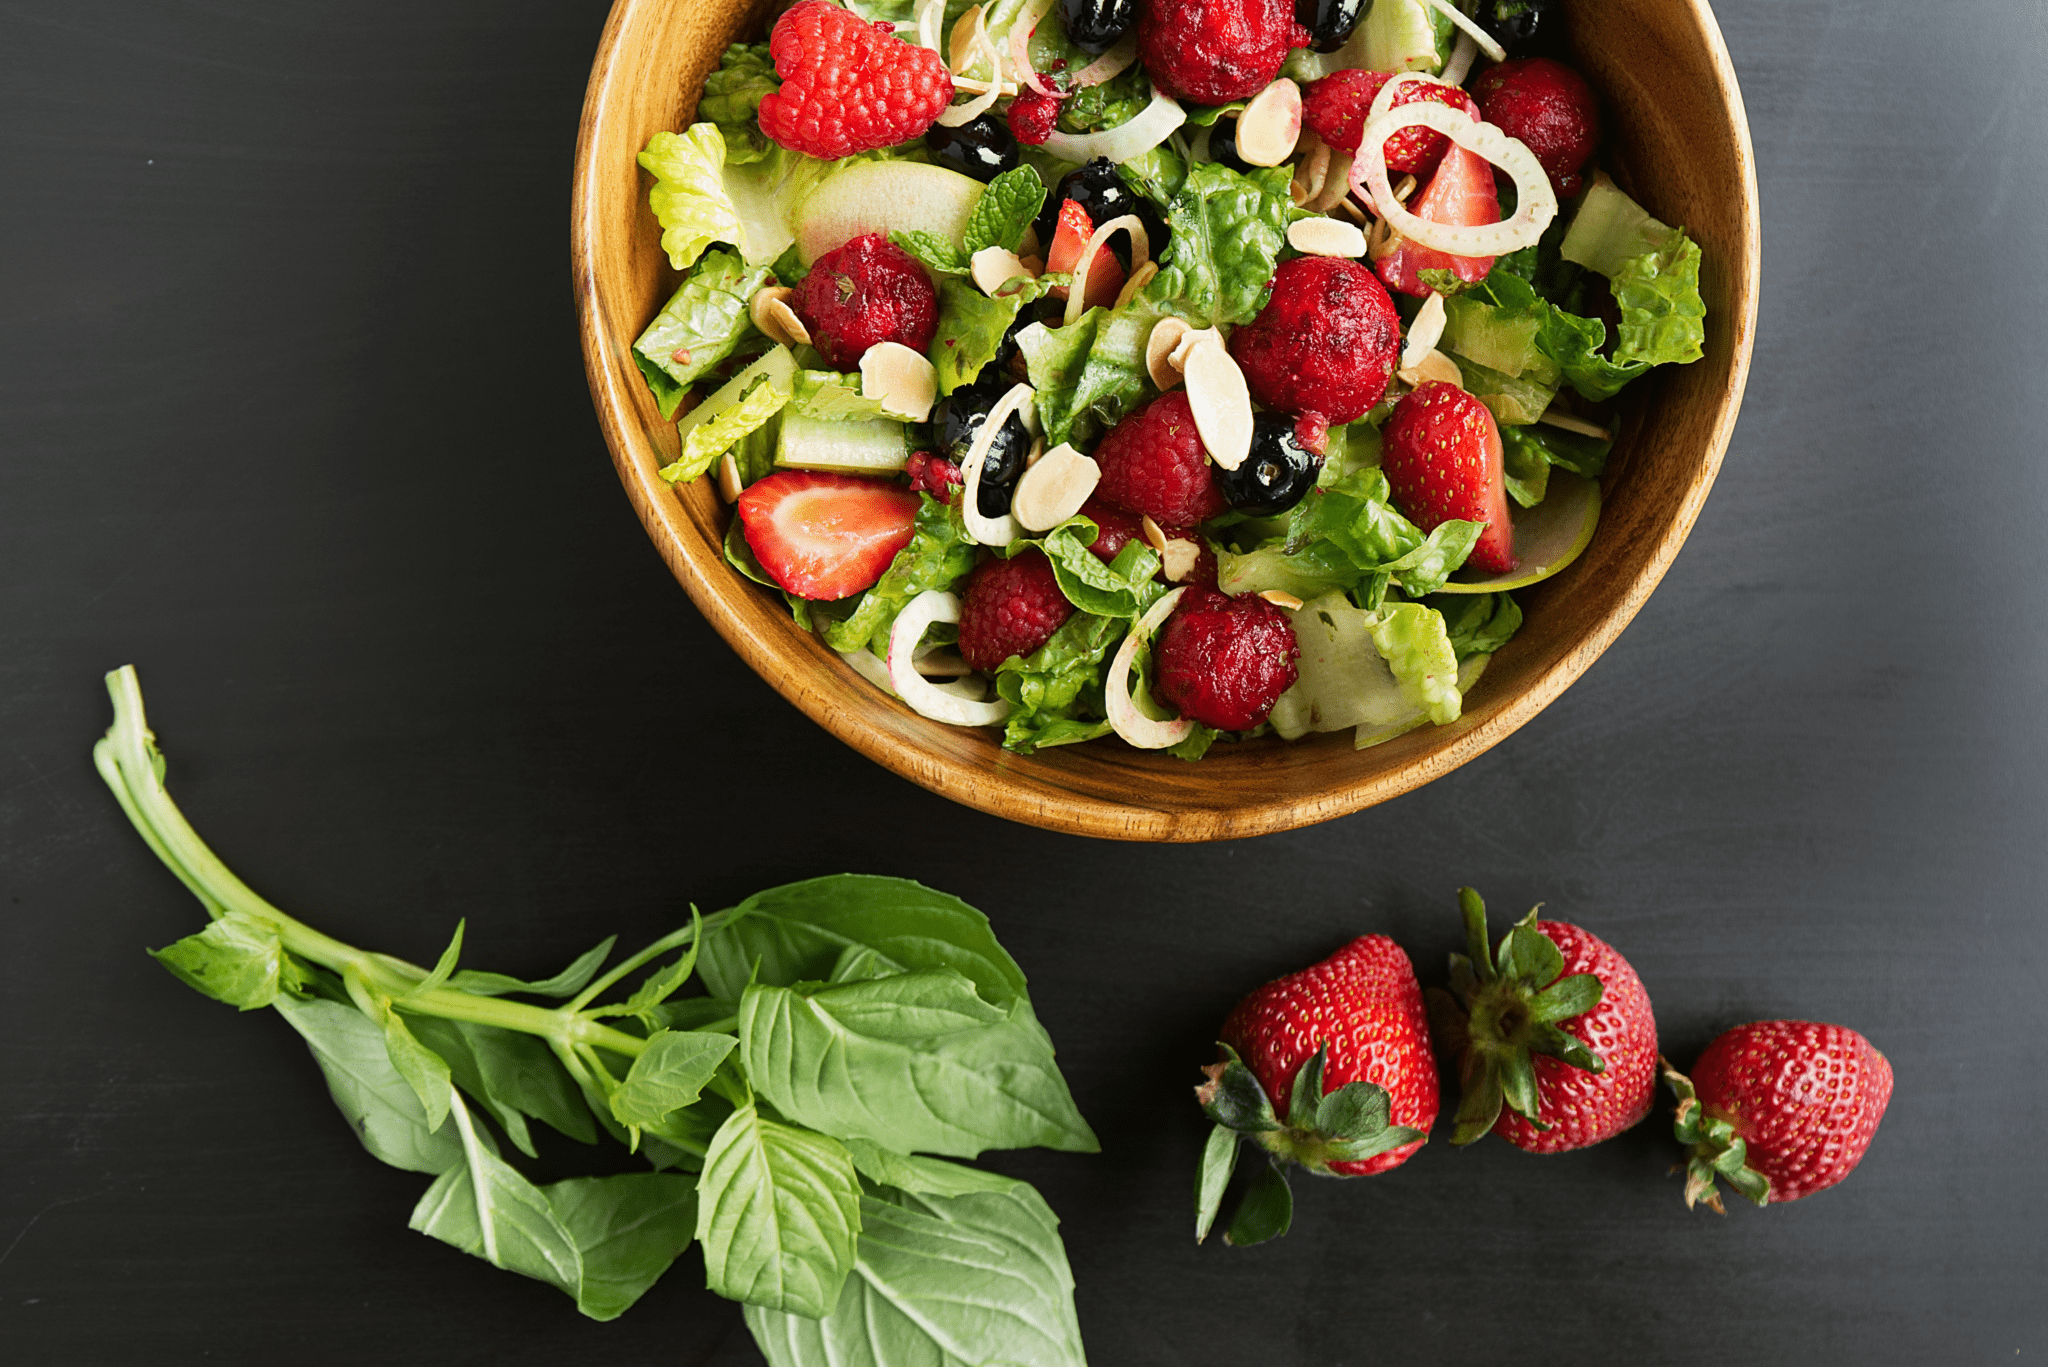
MULTIPOLYGON (((1366 773, 1356 781, 1325 787, 1311 797, 1253 797, 1233 807, 1167 807, 1145 801, 1106 801, 1092 793, 1059 787, 1057 783, 1030 783, 1016 773, 961 764, 952 758, 924 754, 913 746, 901 744, 877 730, 860 713, 838 705, 825 689, 817 687, 817 680, 807 680, 801 672, 793 674, 784 668, 793 662, 786 631, 770 637, 737 613, 727 611, 723 592, 731 588, 727 582, 733 578, 731 570, 723 557, 713 560, 707 570, 707 564, 690 553, 684 539, 686 516, 680 500, 655 473, 653 459, 635 459, 637 447, 645 445, 635 424, 635 396, 621 387, 621 377, 604 363, 608 338, 602 328, 604 314, 598 299, 596 271, 592 268, 596 244, 602 234, 600 176, 594 162, 600 141, 598 129, 610 113, 612 68, 618 61, 623 35, 641 6, 659 2, 672 0, 614 0, 604 35, 598 41, 596 59, 592 61, 590 86, 584 96, 575 139, 575 172, 569 203, 571 285, 575 291, 584 371, 590 381, 598 422, 604 430, 604 443, 612 453, 612 465, 649 539, 713 629, 725 637, 756 674, 776 687, 778 693, 813 721, 891 773, 993 816, 1049 830, 1120 840, 1243 838, 1348 816, 1450 773, 1499 744, 1548 707, 1634 619, 1692 533, 1692 525, 1700 516, 1700 506, 1706 502, 1720 471, 1737 412, 1741 410, 1743 389, 1749 381, 1757 324, 1757 279, 1761 273, 1761 223, 1749 117, 1735 78, 1735 66, 1720 35, 1720 25, 1714 20, 1714 12, 1706 0, 1675 0, 1688 10, 1692 27, 1712 61, 1716 94, 1737 139, 1735 152, 1741 166, 1741 250, 1739 260, 1731 262, 1735 338, 1729 381, 1718 396, 1700 473, 1679 500, 1675 516, 1651 545, 1640 570, 1630 576, 1606 615, 1597 617, 1548 668, 1538 672, 1518 695, 1501 703, 1477 726, 1450 736, 1446 744, 1413 756, 1397 769, 1366 773), (1016 791, 1026 785, 1030 791, 1016 791)), ((752 586, 748 588, 752 590, 752 586)), ((836 668, 846 678, 856 678, 844 664, 829 660, 815 637, 811 637, 811 646, 809 654, 815 654, 817 662, 813 666, 805 660, 805 668, 836 668)), ((1178 764, 1180 760, 1171 762, 1178 764)))

